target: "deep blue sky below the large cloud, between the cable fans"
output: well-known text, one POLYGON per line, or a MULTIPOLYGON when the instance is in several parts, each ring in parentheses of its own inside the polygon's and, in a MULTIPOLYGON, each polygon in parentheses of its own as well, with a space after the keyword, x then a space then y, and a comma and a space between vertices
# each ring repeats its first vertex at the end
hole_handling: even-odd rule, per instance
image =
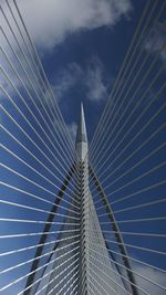
MULTIPOLYGON (((103 21, 100 25, 100 20, 94 17, 92 21, 96 22, 96 28, 93 29, 93 24, 92 28, 91 24, 87 28, 75 28, 75 33, 66 33, 63 42, 51 48, 50 52, 44 45, 42 48, 42 62, 66 124, 71 126, 71 130, 75 130, 80 102, 83 101, 87 126, 92 127, 92 130, 89 127, 90 138, 105 105, 108 89, 118 73, 144 4, 144 1, 139 1, 138 9, 135 11, 133 3, 120 2, 122 7, 125 7, 126 2, 126 11, 121 12, 120 4, 120 17, 113 15, 115 18, 113 23, 108 21, 107 25, 103 25, 103 21)), ((104 3, 106 4, 105 1, 103 6, 104 3)), ((90 9, 89 4, 86 9, 90 9)))

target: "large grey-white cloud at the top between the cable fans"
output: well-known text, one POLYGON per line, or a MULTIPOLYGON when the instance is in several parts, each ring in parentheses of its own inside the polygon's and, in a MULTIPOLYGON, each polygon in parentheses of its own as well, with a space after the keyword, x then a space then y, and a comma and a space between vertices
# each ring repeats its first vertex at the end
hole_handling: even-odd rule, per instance
POLYGON ((131 11, 129 0, 18 0, 35 44, 52 49, 70 33, 112 27, 131 11))

